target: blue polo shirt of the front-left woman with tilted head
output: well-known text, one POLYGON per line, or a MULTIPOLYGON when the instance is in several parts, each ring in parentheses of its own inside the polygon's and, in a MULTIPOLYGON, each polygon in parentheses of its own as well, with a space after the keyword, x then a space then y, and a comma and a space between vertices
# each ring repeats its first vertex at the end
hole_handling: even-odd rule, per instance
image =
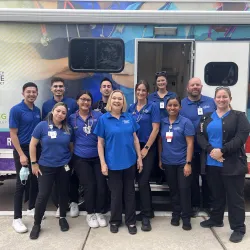
POLYGON ((38 164, 46 167, 60 167, 68 164, 71 158, 70 142, 72 141, 72 130, 66 132, 53 126, 49 128, 47 121, 40 122, 33 131, 32 136, 38 139, 42 146, 42 153, 38 164), (56 131, 56 138, 48 135, 49 131, 56 131))

